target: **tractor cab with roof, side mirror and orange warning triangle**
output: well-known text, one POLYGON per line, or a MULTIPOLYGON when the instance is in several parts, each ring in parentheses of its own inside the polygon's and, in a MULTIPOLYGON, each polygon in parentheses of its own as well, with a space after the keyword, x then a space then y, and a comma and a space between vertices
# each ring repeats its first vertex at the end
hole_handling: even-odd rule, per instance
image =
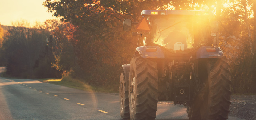
POLYGON ((132 23, 136 23, 136 29, 143 33, 143 46, 159 46, 173 53, 189 53, 200 46, 211 46, 211 36, 218 32, 218 24, 211 26, 211 11, 143 10, 141 15, 139 23, 125 19, 124 30, 130 31, 132 23))

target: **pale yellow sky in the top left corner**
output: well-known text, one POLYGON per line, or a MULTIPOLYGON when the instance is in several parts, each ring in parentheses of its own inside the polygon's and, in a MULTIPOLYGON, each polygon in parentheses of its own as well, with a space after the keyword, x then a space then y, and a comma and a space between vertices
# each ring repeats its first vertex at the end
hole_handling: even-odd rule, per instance
POLYGON ((45 0, 0 0, 0 24, 12 26, 12 22, 26 20, 30 24, 36 21, 56 19, 47 12, 42 4, 45 0))

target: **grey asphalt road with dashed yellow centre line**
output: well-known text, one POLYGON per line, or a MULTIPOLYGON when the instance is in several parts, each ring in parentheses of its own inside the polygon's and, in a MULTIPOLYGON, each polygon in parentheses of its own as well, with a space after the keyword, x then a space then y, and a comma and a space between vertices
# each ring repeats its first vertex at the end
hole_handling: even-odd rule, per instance
MULTIPOLYGON (((188 120, 186 108, 158 103, 156 120, 188 120)), ((0 120, 121 120, 118 95, 30 79, 0 78, 0 120)), ((229 120, 242 120, 229 117, 229 120)))

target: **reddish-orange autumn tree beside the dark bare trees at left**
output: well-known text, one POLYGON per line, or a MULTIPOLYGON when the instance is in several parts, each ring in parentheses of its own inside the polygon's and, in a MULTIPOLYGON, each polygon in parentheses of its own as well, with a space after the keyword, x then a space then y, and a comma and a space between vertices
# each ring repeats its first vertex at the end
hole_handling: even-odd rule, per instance
POLYGON ((48 40, 49 51, 54 55, 52 66, 66 75, 76 67, 76 57, 73 52, 73 32, 76 28, 58 20, 46 20, 40 28, 51 33, 48 40))

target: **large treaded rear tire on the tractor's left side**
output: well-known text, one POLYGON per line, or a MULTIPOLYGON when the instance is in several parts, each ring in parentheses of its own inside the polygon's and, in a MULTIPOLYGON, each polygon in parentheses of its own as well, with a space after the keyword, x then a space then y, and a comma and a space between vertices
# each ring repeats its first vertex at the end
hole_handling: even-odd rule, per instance
POLYGON ((154 120, 158 102, 157 64, 133 55, 129 75, 129 108, 131 120, 154 120))

